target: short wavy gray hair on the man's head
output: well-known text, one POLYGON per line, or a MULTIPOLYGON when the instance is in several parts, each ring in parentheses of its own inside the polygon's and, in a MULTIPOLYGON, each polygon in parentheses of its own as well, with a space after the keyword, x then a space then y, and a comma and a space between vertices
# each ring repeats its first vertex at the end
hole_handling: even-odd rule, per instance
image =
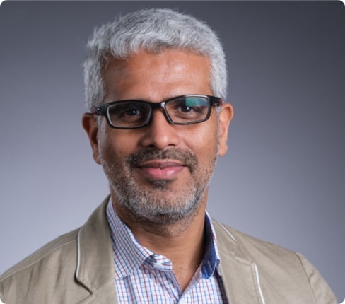
POLYGON ((83 64, 88 110, 102 103, 105 97, 102 73, 107 58, 125 59, 140 49, 158 54, 167 48, 208 57, 212 93, 226 100, 226 59, 216 33, 192 16, 170 9, 152 8, 128 13, 95 28, 88 40, 88 55, 83 64))

